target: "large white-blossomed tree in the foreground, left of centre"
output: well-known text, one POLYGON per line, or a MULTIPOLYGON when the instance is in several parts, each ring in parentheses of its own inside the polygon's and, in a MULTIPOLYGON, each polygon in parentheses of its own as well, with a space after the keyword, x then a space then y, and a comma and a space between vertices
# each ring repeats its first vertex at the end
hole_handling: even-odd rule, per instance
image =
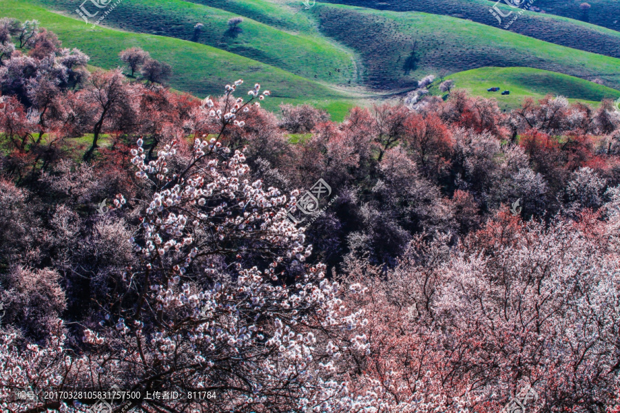
MULTIPOLYGON (((227 87, 226 96, 239 84, 227 87)), ((251 91, 253 98, 258 88, 251 91)), ((234 102, 220 109, 207 99, 205 110, 222 129, 242 126, 237 117, 247 113, 249 103, 234 102)), ((325 279, 324 266, 301 266, 311 246, 304 246, 302 231, 285 218, 294 193, 289 200, 275 188, 263 189, 260 180, 250 182, 245 156, 231 153, 218 138, 196 139, 178 173, 168 167, 177 154, 174 140, 148 164, 143 140, 137 145, 132 149, 136 176, 154 192, 141 226, 127 240, 136 265, 108 280, 114 284, 112 301, 99 303, 101 321, 84 329, 87 355, 72 359, 62 335, 52 335, 54 348, 19 352, 12 347, 15 334, 7 335, 3 372, 19 374, 3 375, 5 395, 26 388, 47 363, 52 371, 40 387, 35 385, 38 392, 116 385, 144 392, 218 393, 216 401, 174 402, 166 407, 172 411, 347 407, 346 387, 330 379, 336 372, 334 356, 318 337, 338 337, 355 328, 360 314, 340 305, 338 284, 325 279), (236 260, 226 264, 227 257, 236 260), (249 257, 260 257, 265 268, 245 268, 249 257), (132 377, 125 376, 130 371, 132 377)), ((114 200, 117 209, 126 203, 123 195, 114 200)), ((364 350, 364 343, 355 344, 364 350)), ((19 405, 5 406, 19 411, 19 405)), ((142 401, 140 407, 158 411, 155 401, 152 406, 142 401)))

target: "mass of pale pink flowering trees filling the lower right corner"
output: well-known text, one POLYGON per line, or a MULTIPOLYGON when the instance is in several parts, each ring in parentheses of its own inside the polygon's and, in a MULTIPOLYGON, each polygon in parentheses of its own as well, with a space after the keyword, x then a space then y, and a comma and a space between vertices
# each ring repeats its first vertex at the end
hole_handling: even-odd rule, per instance
POLYGON ((498 412, 526 386, 528 410, 615 411, 620 273, 617 191, 606 222, 520 222, 500 212, 453 248, 417 237, 393 271, 349 262, 347 306, 366 311, 371 354, 353 394, 384 411, 498 412), (426 405, 426 406, 428 406, 426 405), (392 410, 390 410, 392 409, 392 410), (464 411, 464 410, 460 410, 464 411))

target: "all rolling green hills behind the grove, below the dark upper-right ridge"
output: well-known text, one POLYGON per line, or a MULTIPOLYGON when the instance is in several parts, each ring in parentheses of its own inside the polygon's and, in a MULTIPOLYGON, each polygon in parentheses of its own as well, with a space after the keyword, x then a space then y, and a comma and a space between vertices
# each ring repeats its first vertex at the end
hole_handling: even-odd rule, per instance
MULTIPOLYGON (((198 97, 217 95, 226 83, 244 78, 272 90, 265 100, 268 109, 282 102, 311 103, 327 109, 333 120, 342 120, 359 98, 372 103, 440 71, 453 73, 446 78, 453 78, 457 88, 497 98, 503 109, 518 107, 526 96, 548 93, 592 105, 620 96, 583 80, 601 78, 620 89, 620 59, 458 17, 325 3, 304 10, 289 0, 123 0, 121 6, 105 19, 112 28, 92 29, 71 14, 74 3, 60 0, 0 0, 0 16, 38 19, 65 47, 84 50, 98 67, 117 67, 118 52, 139 46, 172 65, 170 85, 176 89, 198 97), (238 15, 245 19, 242 32, 227 34, 227 20, 238 15), (197 37, 196 23, 205 25, 197 37), (338 85, 362 85, 369 91, 354 95, 331 87, 338 85), (491 86, 511 94, 486 92, 491 86)), ((436 87, 431 92, 440 94, 436 87)))

